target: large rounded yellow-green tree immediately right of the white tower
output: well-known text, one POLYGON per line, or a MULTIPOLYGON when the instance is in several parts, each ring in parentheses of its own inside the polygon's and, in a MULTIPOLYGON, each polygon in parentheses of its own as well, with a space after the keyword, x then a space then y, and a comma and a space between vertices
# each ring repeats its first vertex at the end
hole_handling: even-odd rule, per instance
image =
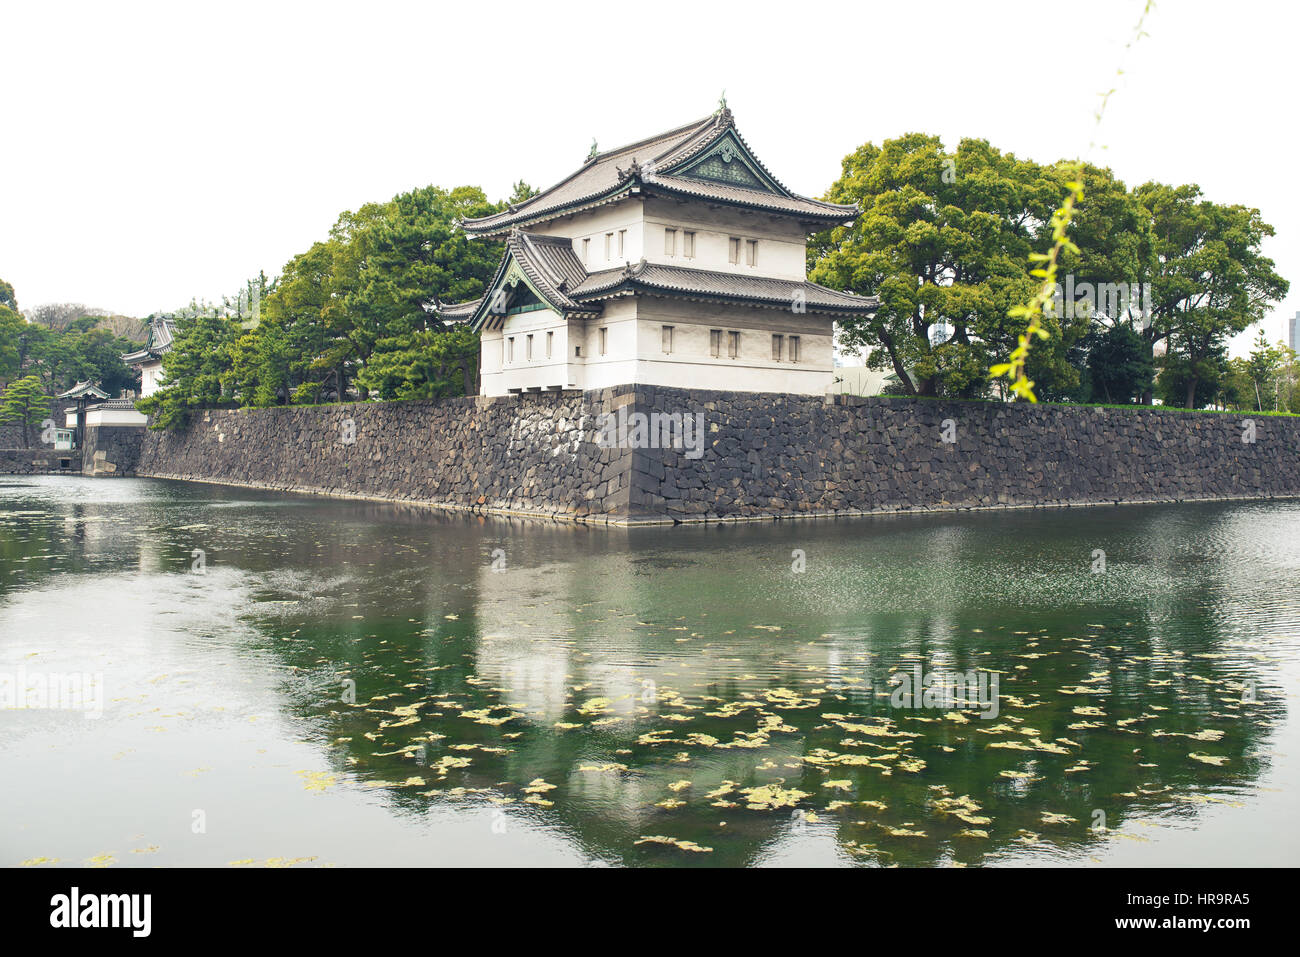
MULTIPOLYGON (((862 215, 812 238, 811 278, 878 295, 880 309, 841 324, 849 347, 870 350, 907 394, 979 395, 987 368, 1014 346, 1023 322, 1008 317, 1034 290, 1028 255, 1060 194, 1061 172, 1018 160, 985 140, 954 153, 937 137, 907 134, 845 157, 827 199, 862 215)), ((1086 317, 1048 317, 1052 339, 1032 355, 1049 390, 1078 384, 1067 350, 1086 317)))

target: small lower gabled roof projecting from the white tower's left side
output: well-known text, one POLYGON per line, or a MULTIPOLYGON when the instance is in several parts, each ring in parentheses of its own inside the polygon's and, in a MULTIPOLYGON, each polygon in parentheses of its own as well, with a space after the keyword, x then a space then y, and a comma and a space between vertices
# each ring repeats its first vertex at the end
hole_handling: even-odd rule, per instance
POLYGON ((434 311, 447 322, 469 322, 474 332, 494 329, 511 312, 550 308, 562 315, 595 315, 590 307, 569 296, 568 290, 586 278, 586 269, 573 252, 573 241, 559 235, 538 235, 512 230, 497 274, 482 296, 468 303, 438 306, 434 311))

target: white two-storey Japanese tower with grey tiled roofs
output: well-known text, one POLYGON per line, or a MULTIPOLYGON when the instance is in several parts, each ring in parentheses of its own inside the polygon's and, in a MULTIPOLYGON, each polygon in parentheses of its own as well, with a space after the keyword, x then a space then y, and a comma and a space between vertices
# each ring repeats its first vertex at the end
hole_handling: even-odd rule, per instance
POLYGON ((725 104, 603 153, 462 225, 503 239, 485 295, 439 306, 480 333, 484 395, 647 384, 820 395, 836 317, 876 299, 807 281, 807 235, 854 205, 785 189, 725 104))

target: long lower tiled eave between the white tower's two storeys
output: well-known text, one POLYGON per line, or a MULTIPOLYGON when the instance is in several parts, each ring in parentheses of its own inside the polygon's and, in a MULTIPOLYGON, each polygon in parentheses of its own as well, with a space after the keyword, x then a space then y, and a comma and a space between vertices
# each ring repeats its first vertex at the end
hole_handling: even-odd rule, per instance
POLYGON ((569 295, 581 302, 592 302, 623 290, 779 308, 790 308, 802 294, 802 306, 812 312, 862 313, 880 307, 880 300, 875 296, 837 293, 815 282, 689 269, 645 260, 624 269, 592 273, 585 282, 569 290, 569 295))

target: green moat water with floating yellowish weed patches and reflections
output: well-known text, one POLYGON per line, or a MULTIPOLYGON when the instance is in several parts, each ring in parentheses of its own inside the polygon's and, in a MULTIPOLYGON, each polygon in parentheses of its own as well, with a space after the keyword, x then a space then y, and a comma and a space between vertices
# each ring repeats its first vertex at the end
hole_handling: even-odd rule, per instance
POLYGON ((0 865, 1294 865, 1297 636, 1300 502, 608 529, 4 477, 0 865), (949 672, 996 716, 900 702, 949 672))

